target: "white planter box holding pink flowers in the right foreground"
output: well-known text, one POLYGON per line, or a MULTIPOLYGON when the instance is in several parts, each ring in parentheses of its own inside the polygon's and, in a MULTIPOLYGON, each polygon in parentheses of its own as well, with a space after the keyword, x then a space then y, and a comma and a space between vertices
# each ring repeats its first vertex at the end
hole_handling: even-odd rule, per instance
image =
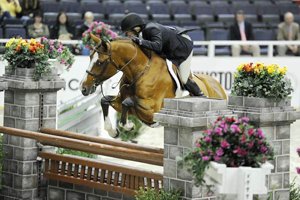
POLYGON ((269 162, 259 168, 227 167, 211 161, 204 179, 207 185, 214 185, 217 196, 222 199, 252 200, 253 194, 266 194, 265 175, 271 173, 274 166, 269 162), (224 195, 225 194, 225 195, 224 195))

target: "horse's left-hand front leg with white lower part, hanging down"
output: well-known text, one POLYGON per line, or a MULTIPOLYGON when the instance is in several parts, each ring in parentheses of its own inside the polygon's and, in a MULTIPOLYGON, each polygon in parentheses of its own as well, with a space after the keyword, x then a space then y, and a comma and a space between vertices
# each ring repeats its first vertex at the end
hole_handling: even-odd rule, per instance
POLYGON ((117 112, 120 112, 121 108, 121 100, 120 96, 104 96, 101 99, 101 107, 104 116, 104 130, 106 130, 109 136, 113 138, 117 138, 120 136, 120 131, 115 128, 112 128, 109 116, 108 116, 108 108, 112 106, 117 112), (116 97, 115 100, 113 100, 116 97), (113 101, 112 101, 113 100, 113 101))

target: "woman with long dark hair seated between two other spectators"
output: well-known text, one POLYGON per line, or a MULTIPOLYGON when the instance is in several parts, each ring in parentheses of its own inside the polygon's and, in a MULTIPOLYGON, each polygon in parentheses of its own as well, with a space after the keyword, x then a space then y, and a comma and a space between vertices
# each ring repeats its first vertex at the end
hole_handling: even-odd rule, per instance
POLYGON ((52 30, 52 39, 70 40, 73 37, 72 27, 67 21, 67 16, 64 12, 58 14, 56 25, 52 30))

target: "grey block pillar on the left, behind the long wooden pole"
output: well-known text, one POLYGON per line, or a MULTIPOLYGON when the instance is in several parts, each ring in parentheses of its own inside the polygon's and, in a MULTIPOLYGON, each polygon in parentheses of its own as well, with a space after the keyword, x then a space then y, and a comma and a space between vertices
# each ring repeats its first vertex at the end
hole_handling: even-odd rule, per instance
MULTIPOLYGON (((8 89, 4 93, 4 120, 7 127, 36 131, 40 126, 56 127, 56 93, 65 82, 52 69, 51 80, 33 81, 35 69, 5 70, 2 78, 8 89)), ((3 135, 4 162, 1 199, 45 199, 47 181, 40 177, 41 162, 36 160, 39 147, 33 139, 3 135)))

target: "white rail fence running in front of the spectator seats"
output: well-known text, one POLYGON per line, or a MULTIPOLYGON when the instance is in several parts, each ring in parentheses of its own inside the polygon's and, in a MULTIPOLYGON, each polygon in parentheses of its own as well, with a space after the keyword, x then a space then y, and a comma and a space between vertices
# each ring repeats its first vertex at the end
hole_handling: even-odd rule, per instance
MULTIPOLYGON (((6 43, 9 39, 0 39, 0 43, 6 43)), ((63 44, 82 44, 81 40, 60 40, 63 44)), ((267 57, 273 57, 274 47, 278 45, 299 45, 300 41, 194 41, 194 46, 207 46, 207 56, 214 57, 215 46, 230 46, 230 45, 259 45, 267 46, 267 57)))

